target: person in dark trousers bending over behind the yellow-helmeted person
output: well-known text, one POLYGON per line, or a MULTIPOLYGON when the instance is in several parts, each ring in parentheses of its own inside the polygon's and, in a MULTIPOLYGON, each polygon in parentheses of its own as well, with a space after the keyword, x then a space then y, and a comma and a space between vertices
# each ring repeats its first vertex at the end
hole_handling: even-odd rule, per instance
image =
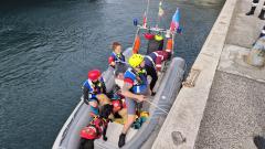
POLYGON ((145 68, 147 71, 147 75, 151 76, 150 89, 151 95, 156 93, 152 91, 157 79, 158 79, 158 72, 161 72, 162 62, 167 61, 170 55, 170 52, 166 51, 155 51, 149 55, 145 56, 145 68))

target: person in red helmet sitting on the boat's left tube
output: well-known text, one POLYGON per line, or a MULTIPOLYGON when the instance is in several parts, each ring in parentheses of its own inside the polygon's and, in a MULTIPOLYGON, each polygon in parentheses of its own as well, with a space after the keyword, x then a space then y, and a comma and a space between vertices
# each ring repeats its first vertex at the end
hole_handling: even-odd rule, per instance
POLYGON ((88 79, 83 84, 83 97, 84 103, 89 105, 92 115, 98 115, 98 105, 103 99, 107 99, 106 86, 102 77, 102 73, 98 70, 89 71, 88 79))

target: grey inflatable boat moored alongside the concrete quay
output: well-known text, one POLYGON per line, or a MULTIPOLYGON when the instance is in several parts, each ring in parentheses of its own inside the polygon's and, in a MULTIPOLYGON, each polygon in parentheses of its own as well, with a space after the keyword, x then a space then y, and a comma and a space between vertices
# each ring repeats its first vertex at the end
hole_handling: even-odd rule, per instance
MULTIPOLYGON (((170 30, 146 28, 145 25, 137 26, 137 35, 139 35, 140 31, 148 33, 159 32, 159 34, 162 34, 163 36, 167 36, 166 34, 168 34, 173 40, 176 34, 176 32, 171 32, 170 30)), ((148 39, 149 36, 146 38, 148 39)), ((138 52, 138 50, 136 50, 136 46, 138 46, 136 43, 137 40, 136 36, 134 46, 124 52, 126 60, 128 60, 132 53, 138 52)), ((148 44, 147 51, 151 52, 150 49, 152 49, 152 45, 148 44)), ((140 128, 130 128, 126 136, 126 145, 123 147, 124 149, 149 149, 151 147, 181 88, 184 70, 186 62, 181 57, 171 56, 169 61, 163 63, 161 74, 155 86, 156 95, 149 97, 150 102, 144 102, 144 110, 149 113, 149 117, 140 128)), ((123 83, 123 81, 116 77, 115 70, 110 66, 103 73, 103 78, 107 92, 112 92, 115 85, 123 83)), ((81 141, 80 132, 82 128, 89 124, 89 119, 91 115, 88 105, 86 105, 83 102, 83 97, 81 97, 81 102, 59 132, 53 149, 78 149, 81 141)), ((106 134, 108 137, 107 141, 104 141, 102 138, 96 139, 94 141, 95 148, 118 149, 118 138, 121 129, 123 124, 109 123, 106 134)))

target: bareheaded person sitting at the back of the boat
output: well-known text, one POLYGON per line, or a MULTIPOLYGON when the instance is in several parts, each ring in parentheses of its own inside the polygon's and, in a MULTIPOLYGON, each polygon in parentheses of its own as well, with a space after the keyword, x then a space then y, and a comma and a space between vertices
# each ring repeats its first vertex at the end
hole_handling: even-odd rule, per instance
POLYGON ((115 68, 116 63, 125 63, 125 56, 123 55, 121 45, 118 42, 113 43, 113 53, 108 57, 108 64, 115 68))

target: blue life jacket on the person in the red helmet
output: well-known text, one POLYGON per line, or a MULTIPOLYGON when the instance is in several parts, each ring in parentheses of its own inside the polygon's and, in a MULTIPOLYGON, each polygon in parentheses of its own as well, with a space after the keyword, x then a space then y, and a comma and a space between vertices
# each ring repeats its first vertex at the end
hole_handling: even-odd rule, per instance
POLYGON ((88 88, 88 98, 95 98, 97 94, 103 93, 103 85, 104 85, 104 79, 100 77, 98 79, 99 82, 97 84, 92 83, 91 79, 86 79, 84 83, 84 87, 88 88))

